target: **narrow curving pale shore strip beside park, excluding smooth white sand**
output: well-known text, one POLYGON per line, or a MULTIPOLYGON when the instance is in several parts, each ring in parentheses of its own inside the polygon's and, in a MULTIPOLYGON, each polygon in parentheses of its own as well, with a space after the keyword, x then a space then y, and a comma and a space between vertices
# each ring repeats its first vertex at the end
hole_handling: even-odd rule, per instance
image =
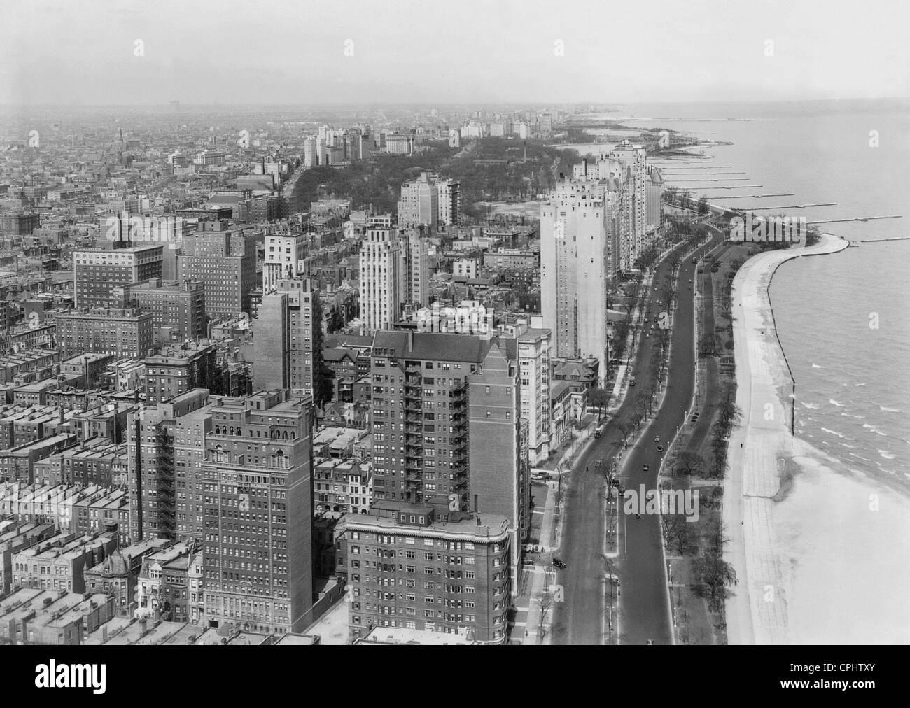
POLYGON ((728 442, 723 521, 730 541, 724 560, 738 584, 726 602, 730 644, 790 643, 782 553, 772 523, 780 471, 794 456, 790 391, 794 381, 774 326, 768 288, 774 272, 792 258, 836 253, 843 238, 824 234, 816 244, 760 253, 733 279, 736 404, 743 411, 728 442))

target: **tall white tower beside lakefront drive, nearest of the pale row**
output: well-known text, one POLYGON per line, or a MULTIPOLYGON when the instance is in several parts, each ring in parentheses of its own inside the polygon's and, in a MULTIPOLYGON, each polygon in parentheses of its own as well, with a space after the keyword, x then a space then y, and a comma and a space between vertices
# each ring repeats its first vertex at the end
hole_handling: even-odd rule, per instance
POLYGON ((541 308, 557 356, 607 370, 607 288, 620 269, 622 183, 589 172, 563 177, 541 205, 541 308))

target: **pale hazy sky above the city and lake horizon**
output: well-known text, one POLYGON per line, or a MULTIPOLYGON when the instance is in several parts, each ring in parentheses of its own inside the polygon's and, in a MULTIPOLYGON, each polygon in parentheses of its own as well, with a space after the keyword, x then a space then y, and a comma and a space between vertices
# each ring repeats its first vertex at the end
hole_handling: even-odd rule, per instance
POLYGON ((910 96, 903 0, 0 0, 0 104, 910 96))

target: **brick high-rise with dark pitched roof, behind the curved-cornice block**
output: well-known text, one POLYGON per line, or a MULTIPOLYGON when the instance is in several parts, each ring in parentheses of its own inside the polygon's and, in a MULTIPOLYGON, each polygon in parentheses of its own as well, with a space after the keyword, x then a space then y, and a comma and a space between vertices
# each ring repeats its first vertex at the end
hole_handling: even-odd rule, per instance
POLYGON ((377 332, 374 499, 435 499, 461 510, 476 504, 505 516, 516 533, 524 528, 529 489, 518 370, 514 339, 377 332))

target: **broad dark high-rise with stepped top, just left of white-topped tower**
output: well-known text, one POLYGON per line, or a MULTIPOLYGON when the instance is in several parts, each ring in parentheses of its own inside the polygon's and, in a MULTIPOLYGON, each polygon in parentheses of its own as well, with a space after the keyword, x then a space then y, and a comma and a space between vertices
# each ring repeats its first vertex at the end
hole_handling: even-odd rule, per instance
POLYGON ((210 318, 249 312, 250 293, 258 285, 256 248, 241 232, 228 230, 225 221, 200 221, 183 250, 186 255, 177 258, 179 279, 205 281, 210 318))

